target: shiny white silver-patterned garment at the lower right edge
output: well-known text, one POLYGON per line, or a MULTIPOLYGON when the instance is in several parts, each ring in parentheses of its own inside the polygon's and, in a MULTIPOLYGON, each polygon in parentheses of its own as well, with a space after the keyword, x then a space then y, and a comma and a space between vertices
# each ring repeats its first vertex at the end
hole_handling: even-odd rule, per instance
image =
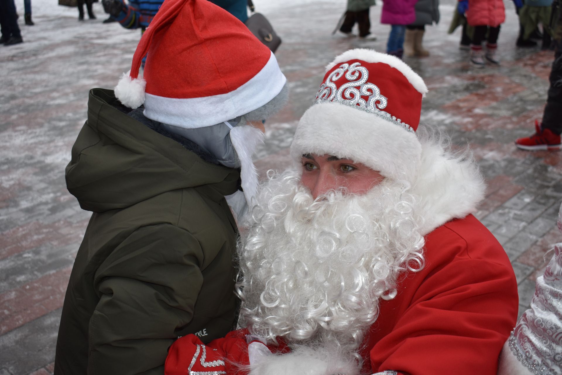
MULTIPOLYGON (((558 228, 562 231, 562 206, 558 228)), ((509 347, 533 374, 562 375, 562 242, 537 279, 531 309, 511 332, 509 347)))

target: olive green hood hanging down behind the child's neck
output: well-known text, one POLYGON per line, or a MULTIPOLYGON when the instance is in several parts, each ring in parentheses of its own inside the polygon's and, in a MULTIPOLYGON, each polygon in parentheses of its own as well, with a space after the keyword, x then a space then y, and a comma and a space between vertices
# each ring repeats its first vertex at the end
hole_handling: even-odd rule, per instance
POLYGON ((215 199, 237 190, 239 170, 202 160, 121 107, 111 90, 89 93, 88 120, 66 166, 66 186, 84 210, 123 209, 175 189, 207 186, 215 199))

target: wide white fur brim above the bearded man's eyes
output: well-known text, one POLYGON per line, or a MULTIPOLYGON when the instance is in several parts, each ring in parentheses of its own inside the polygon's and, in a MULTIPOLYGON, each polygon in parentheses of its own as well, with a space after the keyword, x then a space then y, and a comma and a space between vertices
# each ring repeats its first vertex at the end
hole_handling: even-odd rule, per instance
POLYGON ((377 115, 339 103, 310 107, 298 123, 291 156, 305 153, 351 159, 384 177, 415 181, 422 155, 416 134, 377 115))

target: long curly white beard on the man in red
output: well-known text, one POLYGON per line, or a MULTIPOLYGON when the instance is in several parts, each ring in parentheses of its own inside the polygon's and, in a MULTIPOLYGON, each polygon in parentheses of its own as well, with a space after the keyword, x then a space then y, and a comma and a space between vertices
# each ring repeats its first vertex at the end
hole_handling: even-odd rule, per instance
POLYGON ((337 342, 356 351, 396 296, 398 274, 424 266, 420 218, 404 184, 314 201, 300 173, 269 176, 238 245, 239 323, 270 342, 337 342))

